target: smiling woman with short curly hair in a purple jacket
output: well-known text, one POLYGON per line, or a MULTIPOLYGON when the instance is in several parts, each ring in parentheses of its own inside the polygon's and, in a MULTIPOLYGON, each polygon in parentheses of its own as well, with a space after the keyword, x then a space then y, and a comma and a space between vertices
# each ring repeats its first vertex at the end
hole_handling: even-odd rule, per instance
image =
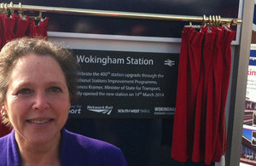
POLYGON ((76 60, 67 49, 21 38, 0 53, 3 123, 0 165, 126 166, 119 148, 63 129, 76 95, 76 60))

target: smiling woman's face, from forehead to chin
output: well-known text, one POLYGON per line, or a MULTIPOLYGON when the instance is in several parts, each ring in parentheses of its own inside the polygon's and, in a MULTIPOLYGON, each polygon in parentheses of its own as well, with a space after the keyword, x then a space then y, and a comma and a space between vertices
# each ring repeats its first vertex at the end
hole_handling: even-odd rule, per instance
POLYGON ((42 144, 60 139, 70 100, 58 62, 50 56, 21 57, 10 73, 4 106, 17 140, 42 144))

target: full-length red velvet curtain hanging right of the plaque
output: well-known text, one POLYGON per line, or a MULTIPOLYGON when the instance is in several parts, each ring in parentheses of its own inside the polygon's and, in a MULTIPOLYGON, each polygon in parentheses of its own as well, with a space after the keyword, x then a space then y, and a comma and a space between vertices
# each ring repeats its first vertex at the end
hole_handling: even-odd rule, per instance
POLYGON ((226 149, 225 104, 230 82, 227 27, 183 28, 177 79, 172 157, 206 164, 219 162, 226 149))

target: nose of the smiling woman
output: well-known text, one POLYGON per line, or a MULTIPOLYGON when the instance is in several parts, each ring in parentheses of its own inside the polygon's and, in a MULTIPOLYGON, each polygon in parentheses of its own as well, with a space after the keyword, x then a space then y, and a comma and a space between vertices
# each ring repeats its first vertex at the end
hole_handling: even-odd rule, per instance
POLYGON ((45 110, 49 108, 49 102, 44 92, 36 93, 32 107, 35 110, 45 110))

